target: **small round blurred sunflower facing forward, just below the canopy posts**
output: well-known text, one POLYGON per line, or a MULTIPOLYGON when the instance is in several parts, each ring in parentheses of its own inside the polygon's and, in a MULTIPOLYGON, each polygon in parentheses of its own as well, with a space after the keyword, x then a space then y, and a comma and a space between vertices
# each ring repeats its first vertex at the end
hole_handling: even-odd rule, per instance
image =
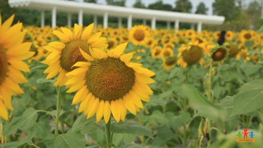
POLYGON ((134 45, 145 45, 147 38, 149 36, 148 30, 143 25, 134 26, 129 31, 129 40, 133 42, 134 45))

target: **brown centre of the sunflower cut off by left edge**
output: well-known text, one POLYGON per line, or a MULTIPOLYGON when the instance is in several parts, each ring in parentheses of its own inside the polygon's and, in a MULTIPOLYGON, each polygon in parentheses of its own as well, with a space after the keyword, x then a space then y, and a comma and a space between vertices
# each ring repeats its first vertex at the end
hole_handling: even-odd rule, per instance
POLYGON ((0 86, 5 81, 8 72, 8 58, 5 49, 0 45, 0 86))

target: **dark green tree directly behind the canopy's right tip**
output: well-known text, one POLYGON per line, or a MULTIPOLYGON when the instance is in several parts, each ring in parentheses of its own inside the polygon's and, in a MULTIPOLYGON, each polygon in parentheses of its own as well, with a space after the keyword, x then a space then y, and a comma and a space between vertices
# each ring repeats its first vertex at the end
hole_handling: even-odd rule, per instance
POLYGON ((224 16, 226 21, 233 20, 233 13, 238 8, 235 4, 236 0, 215 0, 212 4, 213 14, 224 16))

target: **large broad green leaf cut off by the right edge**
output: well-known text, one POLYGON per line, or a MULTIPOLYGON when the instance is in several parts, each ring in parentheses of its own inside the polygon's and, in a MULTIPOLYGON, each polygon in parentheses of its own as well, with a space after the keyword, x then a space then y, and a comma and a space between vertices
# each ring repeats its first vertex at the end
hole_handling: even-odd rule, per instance
POLYGON ((262 108, 263 80, 258 79, 244 84, 234 95, 234 108, 231 116, 246 114, 262 108))

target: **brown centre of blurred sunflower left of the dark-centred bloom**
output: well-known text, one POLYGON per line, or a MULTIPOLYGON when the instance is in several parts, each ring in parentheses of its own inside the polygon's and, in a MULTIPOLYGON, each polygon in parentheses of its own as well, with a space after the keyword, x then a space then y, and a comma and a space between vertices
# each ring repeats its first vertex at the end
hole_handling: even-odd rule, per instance
POLYGON ((183 61, 187 64, 195 64, 197 63, 203 55, 202 48, 198 46, 192 46, 189 50, 184 50, 182 52, 183 61))

